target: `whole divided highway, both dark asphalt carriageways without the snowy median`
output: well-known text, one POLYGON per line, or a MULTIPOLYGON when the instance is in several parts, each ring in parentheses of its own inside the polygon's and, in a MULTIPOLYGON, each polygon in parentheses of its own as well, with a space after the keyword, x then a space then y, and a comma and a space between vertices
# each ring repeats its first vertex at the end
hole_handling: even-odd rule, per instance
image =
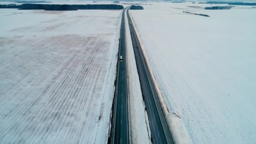
POLYGON ((160 101, 158 99, 155 85, 149 74, 144 55, 135 33, 131 17, 129 15, 129 7, 122 12, 120 44, 117 61, 117 81, 115 100, 113 105, 112 128, 110 136, 110 144, 128 144, 128 105, 127 105, 127 70, 126 70, 126 40, 125 40, 125 10, 127 9, 127 17, 129 29, 131 32, 131 40, 133 51, 138 69, 141 91, 145 101, 149 125, 151 129, 151 137, 154 144, 173 144, 173 139, 169 131, 160 101))

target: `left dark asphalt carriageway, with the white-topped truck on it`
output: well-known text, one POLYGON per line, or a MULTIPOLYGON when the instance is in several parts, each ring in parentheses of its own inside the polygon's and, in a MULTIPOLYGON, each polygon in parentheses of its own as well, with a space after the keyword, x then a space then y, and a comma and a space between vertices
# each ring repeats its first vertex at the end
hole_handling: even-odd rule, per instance
MULTIPOLYGON (((127 9, 127 8, 125 8, 127 9)), ((117 82, 113 109, 112 144, 128 144, 128 108, 127 108, 127 73, 126 73, 126 40, 125 9, 122 12, 121 34, 117 61, 117 82), (120 58, 122 56, 122 59, 120 58)))

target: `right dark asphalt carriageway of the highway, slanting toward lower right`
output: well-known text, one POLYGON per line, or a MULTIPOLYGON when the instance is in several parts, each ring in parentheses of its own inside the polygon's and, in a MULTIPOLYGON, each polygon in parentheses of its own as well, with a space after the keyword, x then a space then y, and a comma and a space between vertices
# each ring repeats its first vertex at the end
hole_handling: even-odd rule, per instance
POLYGON ((165 116, 163 114, 160 101, 155 90, 152 78, 149 74, 149 69, 145 62, 141 47, 135 33, 129 10, 127 17, 131 32, 131 40, 133 43, 133 51, 136 59, 136 65, 141 83, 142 95, 146 104, 146 109, 149 117, 149 125, 152 134, 152 140, 155 144, 173 144, 173 139, 169 131, 165 116))

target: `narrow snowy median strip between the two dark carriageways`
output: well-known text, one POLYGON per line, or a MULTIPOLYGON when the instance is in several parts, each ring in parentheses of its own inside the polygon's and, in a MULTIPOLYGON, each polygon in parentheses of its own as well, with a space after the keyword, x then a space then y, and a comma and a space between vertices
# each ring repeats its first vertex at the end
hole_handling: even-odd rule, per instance
POLYGON ((150 144, 150 128, 141 94, 139 75, 136 67, 131 34, 125 12, 125 34, 128 69, 129 136, 133 144, 150 144), (149 131, 149 132, 148 132, 149 131))

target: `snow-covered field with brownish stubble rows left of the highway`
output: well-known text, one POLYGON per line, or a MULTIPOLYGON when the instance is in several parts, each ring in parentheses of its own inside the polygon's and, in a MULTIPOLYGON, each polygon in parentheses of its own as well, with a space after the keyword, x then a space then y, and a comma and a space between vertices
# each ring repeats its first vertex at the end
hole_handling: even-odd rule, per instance
POLYGON ((0 143, 107 141, 120 12, 0 9, 0 143))

